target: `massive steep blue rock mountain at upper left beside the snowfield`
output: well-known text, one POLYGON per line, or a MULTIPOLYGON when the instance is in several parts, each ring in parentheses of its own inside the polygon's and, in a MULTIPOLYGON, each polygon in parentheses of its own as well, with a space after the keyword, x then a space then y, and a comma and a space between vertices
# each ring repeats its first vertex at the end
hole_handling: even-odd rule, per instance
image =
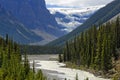
POLYGON ((45 0, 0 0, 0 4, 44 40, 53 40, 65 33, 47 10, 45 0))

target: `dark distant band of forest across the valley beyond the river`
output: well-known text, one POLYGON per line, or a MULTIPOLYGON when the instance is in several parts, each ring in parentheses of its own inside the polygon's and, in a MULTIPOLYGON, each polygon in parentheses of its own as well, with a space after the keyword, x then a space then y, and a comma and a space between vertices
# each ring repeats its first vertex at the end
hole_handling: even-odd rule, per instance
POLYGON ((60 47, 54 46, 37 46, 37 45, 21 45, 21 53, 34 54, 59 54, 61 53, 60 47))

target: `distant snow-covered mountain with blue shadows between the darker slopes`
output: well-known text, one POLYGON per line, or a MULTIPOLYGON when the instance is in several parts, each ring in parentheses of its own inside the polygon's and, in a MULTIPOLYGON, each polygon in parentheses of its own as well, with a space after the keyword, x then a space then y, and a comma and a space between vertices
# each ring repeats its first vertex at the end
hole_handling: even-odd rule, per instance
POLYGON ((76 27, 83 24, 92 16, 101 6, 91 6, 87 8, 48 8, 50 13, 56 18, 62 31, 71 32, 76 27))

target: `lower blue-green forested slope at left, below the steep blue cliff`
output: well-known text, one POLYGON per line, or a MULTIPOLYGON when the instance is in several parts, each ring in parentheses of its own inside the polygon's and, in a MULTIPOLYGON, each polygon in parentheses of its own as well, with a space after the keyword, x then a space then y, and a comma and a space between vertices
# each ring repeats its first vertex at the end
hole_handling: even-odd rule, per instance
POLYGON ((5 37, 6 34, 22 44, 43 40, 42 37, 25 28, 12 14, 0 6, 0 36, 5 37))

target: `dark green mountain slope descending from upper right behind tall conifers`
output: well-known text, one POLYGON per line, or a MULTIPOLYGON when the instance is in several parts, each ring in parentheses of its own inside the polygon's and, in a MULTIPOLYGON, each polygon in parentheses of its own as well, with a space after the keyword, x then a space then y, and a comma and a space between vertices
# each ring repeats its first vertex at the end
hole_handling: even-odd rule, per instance
POLYGON ((81 26, 73 30, 71 33, 55 40, 52 41, 51 43, 47 44, 49 46, 57 46, 57 45, 63 45, 65 44, 66 41, 73 39, 75 36, 79 35, 81 32, 87 30, 90 28, 92 25, 100 25, 117 14, 120 13, 120 0, 114 0, 105 7, 101 8, 98 10, 94 15, 92 15, 88 20, 84 22, 81 26))

